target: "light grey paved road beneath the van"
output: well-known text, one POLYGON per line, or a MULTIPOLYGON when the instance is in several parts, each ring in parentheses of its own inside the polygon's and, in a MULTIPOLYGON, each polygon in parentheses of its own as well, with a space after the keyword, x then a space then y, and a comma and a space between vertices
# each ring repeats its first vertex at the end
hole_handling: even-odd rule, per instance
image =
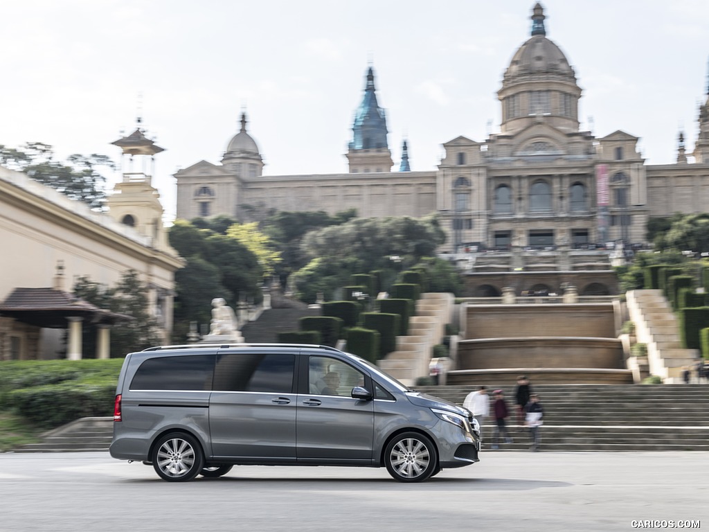
POLYGON ((0 531, 605 532, 638 520, 709 529, 709 453, 481 460, 423 484, 384 469, 252 466, 169 483, 108 453, 0 454, 0 531))

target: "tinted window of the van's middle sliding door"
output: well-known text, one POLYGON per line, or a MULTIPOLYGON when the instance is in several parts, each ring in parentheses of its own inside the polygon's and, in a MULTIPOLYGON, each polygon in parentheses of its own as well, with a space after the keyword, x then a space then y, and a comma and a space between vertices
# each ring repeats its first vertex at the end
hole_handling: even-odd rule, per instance
POLYGON ((293 390, 296 355, 287 353, 227 353, 217 355, 214 389, 221 392, 273 392, 293 390))

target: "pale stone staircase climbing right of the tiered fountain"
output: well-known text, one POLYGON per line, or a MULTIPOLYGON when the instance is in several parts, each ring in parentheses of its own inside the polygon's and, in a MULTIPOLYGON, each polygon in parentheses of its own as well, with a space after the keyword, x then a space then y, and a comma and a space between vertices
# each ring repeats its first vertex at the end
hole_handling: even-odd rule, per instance
POLYGON ((633 290, 626 301, 637 341, 647 344, 650 373, 667 384, 682 382, 683 367, 695 364, 699 354, 682 348, 677 318, 662 291, 633 290))

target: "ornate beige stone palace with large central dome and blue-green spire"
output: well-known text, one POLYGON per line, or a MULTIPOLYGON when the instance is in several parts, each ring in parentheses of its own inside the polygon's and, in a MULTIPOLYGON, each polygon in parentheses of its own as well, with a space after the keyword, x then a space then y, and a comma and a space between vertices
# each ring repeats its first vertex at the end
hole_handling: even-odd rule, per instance
POLYGON ((241 131, 220 164, 201 161, 175 174, 177 217, 226 214, 247 221, 269 209, 354 208, 361 217, 436 212, 449 233, 442 250, 457 251, 477 243, 490 248, 644 243, 650 217, 706 211, 709 99, 700 106, 693 153, 686 153, 679 133, 676 163, 647 165, 638 137, 619 129, 597 138, 579 129, 576 72, 547 38, 544 21, 536 4, 530 38, 503 74, 498 133, 444 143, 437 170, 411 171, 406 141, 393 170, 386 113, 377 103, 370 67, 346 154, 348 173, 264 175, 242 114, 241 131))

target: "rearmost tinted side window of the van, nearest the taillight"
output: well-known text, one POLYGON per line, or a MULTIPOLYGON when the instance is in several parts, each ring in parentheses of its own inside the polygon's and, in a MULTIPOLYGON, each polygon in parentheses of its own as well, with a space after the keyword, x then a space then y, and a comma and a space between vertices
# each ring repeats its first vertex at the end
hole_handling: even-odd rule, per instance
POLYGON ((214 355, 185 355, 145 360, 130 389, 211 390, 214 355))

